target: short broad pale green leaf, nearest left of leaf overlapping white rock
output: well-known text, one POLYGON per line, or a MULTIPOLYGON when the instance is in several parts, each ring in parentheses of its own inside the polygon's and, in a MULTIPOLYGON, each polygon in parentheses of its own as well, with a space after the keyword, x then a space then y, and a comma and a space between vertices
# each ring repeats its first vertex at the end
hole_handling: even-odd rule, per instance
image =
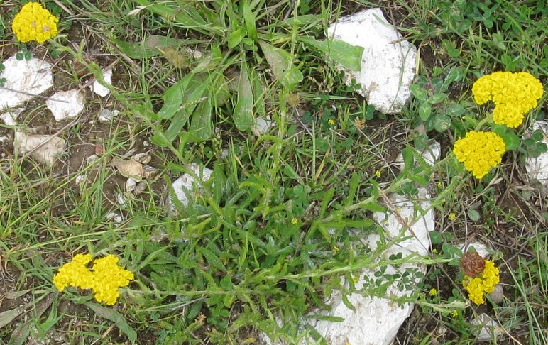
POLYGON ((290 53, 275 48, 263 40, 259 41, 259 45, 261 45, 263 54, 272 68, 274 76, 284 87, 292 89, 302 82, 302 73, 297 67, 293 66, 290 53))

